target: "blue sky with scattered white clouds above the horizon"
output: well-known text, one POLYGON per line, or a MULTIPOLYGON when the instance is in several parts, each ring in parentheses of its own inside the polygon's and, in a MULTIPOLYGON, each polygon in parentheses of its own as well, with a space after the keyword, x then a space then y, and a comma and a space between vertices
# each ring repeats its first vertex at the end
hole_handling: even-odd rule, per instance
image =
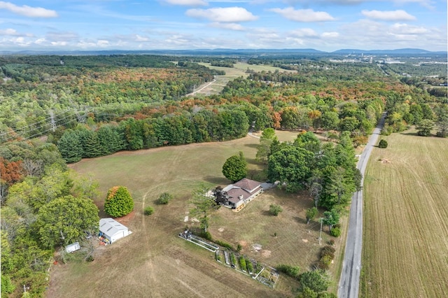
POLYGON ((447 50, 447 0, 0 1, 0 50, 447 50))

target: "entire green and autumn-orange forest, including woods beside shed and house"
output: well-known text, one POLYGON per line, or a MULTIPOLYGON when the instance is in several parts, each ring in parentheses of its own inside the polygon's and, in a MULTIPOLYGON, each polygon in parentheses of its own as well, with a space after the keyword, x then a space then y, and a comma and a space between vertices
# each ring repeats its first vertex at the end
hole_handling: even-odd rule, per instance
POLYGON ((360 187, 353 147, 366 143, 385 111, 384 134, 409 125, 448 133, 447 87, 439 86, 446 76, 433 76, 440 65, 446 74, 447 64, 433 71, 391 64, 387 73, 377 64, 335 64, 317 56, 263 57, 248 62, 295 71, 248 71, 220 94, 185 97, 224 74, 196 62, 231 67, 237 59, 0 57, 2 296, 20 297, 25 285, 31 297, 41 297, 55 250, 95 232, 97 185, 66 163, 120 150, 225 141, 249 130, 296 130, 302 133, 293 143, 260 144, 267 178, 281 180, 286 191, 307 189, 316 206, 340 211, 360 187), (334 142, 322 144, 311 132, 334 142), (303 171, 287 171, 291 159, 303 171), (73 202, 73 212, 55 212, 73 202), (62 225, 66 216, 86 220, 72 229, 62 225))

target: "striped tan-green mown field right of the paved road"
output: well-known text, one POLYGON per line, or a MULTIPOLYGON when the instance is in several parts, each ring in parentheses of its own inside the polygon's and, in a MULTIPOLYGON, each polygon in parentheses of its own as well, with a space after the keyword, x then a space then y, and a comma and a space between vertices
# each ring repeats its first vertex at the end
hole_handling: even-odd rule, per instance
POLYGON ((447 297, 448 139, 384 139, 365 174, 360 297, 447 297))

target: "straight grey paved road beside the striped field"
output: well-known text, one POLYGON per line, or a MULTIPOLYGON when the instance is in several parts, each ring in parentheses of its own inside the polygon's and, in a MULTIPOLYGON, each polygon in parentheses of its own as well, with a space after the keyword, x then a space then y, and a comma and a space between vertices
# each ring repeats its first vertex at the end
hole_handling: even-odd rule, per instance
MULTIPOLYGON (((370 136, 367 146, 360 155, 356 167, 363 174, 361 185, 364 183, 364 173, 369 161, 370 152, 378 141, 379 133, 384 125, 383 114, 373 134, 370 136)), ((344 261, 342 262, 342 274, 339 280, 339 290, 337 297, 339 298, 358 298, 359 293, 359 277, 361 271, 361 252, 363 248, 363 190, 355 192, 351 198, 349 232, 345 245, 344 261)))

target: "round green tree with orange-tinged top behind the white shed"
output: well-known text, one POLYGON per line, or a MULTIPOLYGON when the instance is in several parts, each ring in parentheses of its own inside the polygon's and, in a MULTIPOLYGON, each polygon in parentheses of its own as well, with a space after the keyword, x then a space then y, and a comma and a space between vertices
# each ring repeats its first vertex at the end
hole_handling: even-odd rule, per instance
POLYGON ((125 216, 134 209, 134 200, 129 190, 124 186, 114 186, 107 192, 104 202, 104 212, 113 218, 125 216))

